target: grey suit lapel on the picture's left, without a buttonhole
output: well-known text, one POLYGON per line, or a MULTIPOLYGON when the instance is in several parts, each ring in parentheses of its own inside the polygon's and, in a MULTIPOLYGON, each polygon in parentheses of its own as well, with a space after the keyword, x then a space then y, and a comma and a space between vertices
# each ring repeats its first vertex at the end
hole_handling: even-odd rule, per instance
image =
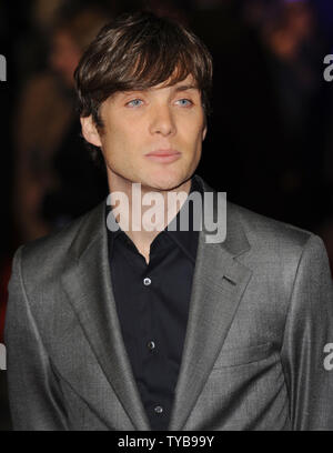
POLYGON ((150 430, 120 330, 107 241, 103 202, 78 234, 71 248, 75 258, 62 281, 97 361, 133 426, 150 430))

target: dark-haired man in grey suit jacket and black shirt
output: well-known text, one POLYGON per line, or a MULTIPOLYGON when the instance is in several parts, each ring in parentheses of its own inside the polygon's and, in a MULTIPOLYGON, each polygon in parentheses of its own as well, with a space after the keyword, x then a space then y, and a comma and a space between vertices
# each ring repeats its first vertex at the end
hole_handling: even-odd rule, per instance
MULTIPOLYGON (((200 40, 149 13, 107 26, 81 59, 82 134, 105 162, 111 207, 16 253, 6 325, 14 429, 333 429, 322 241, 233 204, 223 242, 208 240, 205 223, 198 231, 195 208, 188 231, 169 230, 192 193, 205 208, 213 192, 193 175, 211 78, 200 40), (168 223, 179 192, 188 198, 168 223), (150 193, 167 201, 155 229, 143 228, 150 193)), ((222 224, 219 205, 211 217, 222 224)))

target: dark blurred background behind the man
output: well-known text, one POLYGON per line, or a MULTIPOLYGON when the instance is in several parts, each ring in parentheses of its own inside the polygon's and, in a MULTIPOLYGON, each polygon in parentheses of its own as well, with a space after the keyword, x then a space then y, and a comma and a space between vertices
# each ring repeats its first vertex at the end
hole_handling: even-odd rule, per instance
MULTIPOLYGON (((42 235, 42 229, 28 229, 20 215, 26 212, 26 201, 20 193, 18 162, 24 167, 22 155, 30 151, 17 142, 24 131, 24 114, 21 117, 27 107, 22 108, 22 100, 30 81, 51 73, 61 84, 61 74, 49 62, 53 22, 48 17, 52 14, 41 7, 46 3, 65 3, 67 11, 59 10, 62 16, 93 3, 111 19, 150 6, 157 13, 190 26, 214 58, 212 117, 198 173, 216 190, 226 191, 229 200, 320 234, 333 263, 333 82, 323 78, 324 57, 333 53, 331 0, 2 1, 0 53, 7 58, 8 80, 0 82, 0 342, 13 252, 42 235)), ((68 87, 62 89, 64 99, 71 101, 68 87)), ((33 98, 30 102, 33 114, 33 98)), ((26 129, 24 133, 30 132, 26 129)), ((52 171, 63 177, 61 190, 44 194, 43 208, 36 205, 36 219, 47 222, 46 231, 80 214, 75 207, 63 204, 67 194, 74 192, 63 175, 64 168, 72 165, 84 175, 90 172, 90 161, 81 168, 72 151, 82 145, 77 140, 79 131, 73 127, 64 135, 62 145, 53 151, 58 161, 50 161, 47 171, 33 164, 42 178, 43 172, 52 171), (57 219, 49 212, 56 205, 57 219)), ((38 151, 42 157, 43 149, 38 151)), ((90 194, 93 178, 95 174, 90 194)), ((78 180, 75 190, 80 183, 78 180)), ((82 212, 100 194, 94 197, 82 197, 82 212)), ((7 429, 6 372, 0 371, 0 430, 7 429)))

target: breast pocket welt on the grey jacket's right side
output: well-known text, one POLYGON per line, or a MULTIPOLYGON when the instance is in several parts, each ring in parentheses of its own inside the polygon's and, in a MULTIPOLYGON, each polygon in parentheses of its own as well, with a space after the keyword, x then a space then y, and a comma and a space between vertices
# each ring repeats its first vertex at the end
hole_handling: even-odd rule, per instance
POLYGON ((240 366, 249 363, 259 362, 274 354, 272 343, 255 344, 246 348, 232 348, 221 351, 213 370, 220 370, 228 366, 240 366))

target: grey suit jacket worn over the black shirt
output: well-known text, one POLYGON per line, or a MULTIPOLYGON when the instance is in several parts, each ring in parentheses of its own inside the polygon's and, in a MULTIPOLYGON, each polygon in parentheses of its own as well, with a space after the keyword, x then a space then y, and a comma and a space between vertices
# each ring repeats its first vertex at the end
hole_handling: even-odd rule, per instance
MULTIPOLYGON (((321 239, 228 204, 226 240, 200 233, 169 429, 333 430, 327 343, 321 239)), ((6 345, 14 429, 150 430, 112 294, 104 202, 17 251, 6 345)))

